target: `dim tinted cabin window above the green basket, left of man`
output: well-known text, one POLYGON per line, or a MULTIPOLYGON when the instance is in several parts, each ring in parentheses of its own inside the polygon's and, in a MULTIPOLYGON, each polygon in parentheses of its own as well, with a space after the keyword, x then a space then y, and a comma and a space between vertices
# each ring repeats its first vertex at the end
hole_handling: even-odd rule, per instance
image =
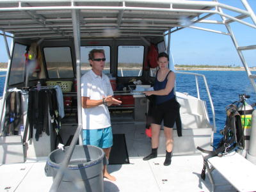
POLYGON ((44 56, 50 79, 74 77, 70 47, 44 47, 44 56))

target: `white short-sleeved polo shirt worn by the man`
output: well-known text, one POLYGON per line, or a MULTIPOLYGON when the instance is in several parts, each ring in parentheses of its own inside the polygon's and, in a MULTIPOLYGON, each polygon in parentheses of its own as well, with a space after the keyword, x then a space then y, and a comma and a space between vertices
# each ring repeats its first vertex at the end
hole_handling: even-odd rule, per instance
MULTIPOLYGON (((81 77, 81 96, 92 100, 113 95, 108 76, 97 76, 93 70, 81 77)), ((108 107, 101 104, 95 108, 82 108, 83 129, 103 129, 111 126, 108 107)))

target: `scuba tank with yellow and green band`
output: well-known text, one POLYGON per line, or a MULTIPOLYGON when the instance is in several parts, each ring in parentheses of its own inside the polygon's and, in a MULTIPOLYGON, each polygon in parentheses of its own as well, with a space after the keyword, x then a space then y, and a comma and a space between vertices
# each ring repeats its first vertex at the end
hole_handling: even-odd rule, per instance
POLYGON ((245 99, 250 98, 249 95, 242 94, 239 95, 239 97, 240 100, 244 98, 237 109, 238 113, 241 115, 242 127, 244 129, 244 150, 249 150, 253 108, 245 101, 245 99))

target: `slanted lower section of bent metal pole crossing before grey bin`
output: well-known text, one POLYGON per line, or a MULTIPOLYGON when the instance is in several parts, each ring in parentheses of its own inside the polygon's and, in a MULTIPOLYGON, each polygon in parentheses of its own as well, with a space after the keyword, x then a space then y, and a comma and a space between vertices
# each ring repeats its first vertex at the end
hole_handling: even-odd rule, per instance
POLYGON ((82 125, 78 125, 77 126, 77 129, 76 129, 76 132, 74 134, 74 137, 70 143, 70 147, 68 148, 67 150, 67 154, 65 155, 61 165, 60 165, 60 169, 58 170, 57 174, 56 174, 56 177, 52 183, 52 186, 51 186, 51 189, 49 192, 56 192, 60 186, 60 182, 61 182, 61 179, 64 175, 64 171, 65 169, 67 168, 68 166, 68 163, 70 161, 70 158, 72 156, 72 153, 74 151, 74 148, 76 147, 76 143, 77 143, 77 140, 79 138, 79 134, 82 130, 82 125))

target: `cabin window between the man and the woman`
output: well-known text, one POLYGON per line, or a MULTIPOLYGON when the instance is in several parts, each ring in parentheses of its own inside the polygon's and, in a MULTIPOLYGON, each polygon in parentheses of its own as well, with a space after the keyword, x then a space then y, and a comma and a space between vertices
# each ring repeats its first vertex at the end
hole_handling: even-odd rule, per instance
POLYGON ((118 77, 142 76, 144 46, 118 46, 118 77))

